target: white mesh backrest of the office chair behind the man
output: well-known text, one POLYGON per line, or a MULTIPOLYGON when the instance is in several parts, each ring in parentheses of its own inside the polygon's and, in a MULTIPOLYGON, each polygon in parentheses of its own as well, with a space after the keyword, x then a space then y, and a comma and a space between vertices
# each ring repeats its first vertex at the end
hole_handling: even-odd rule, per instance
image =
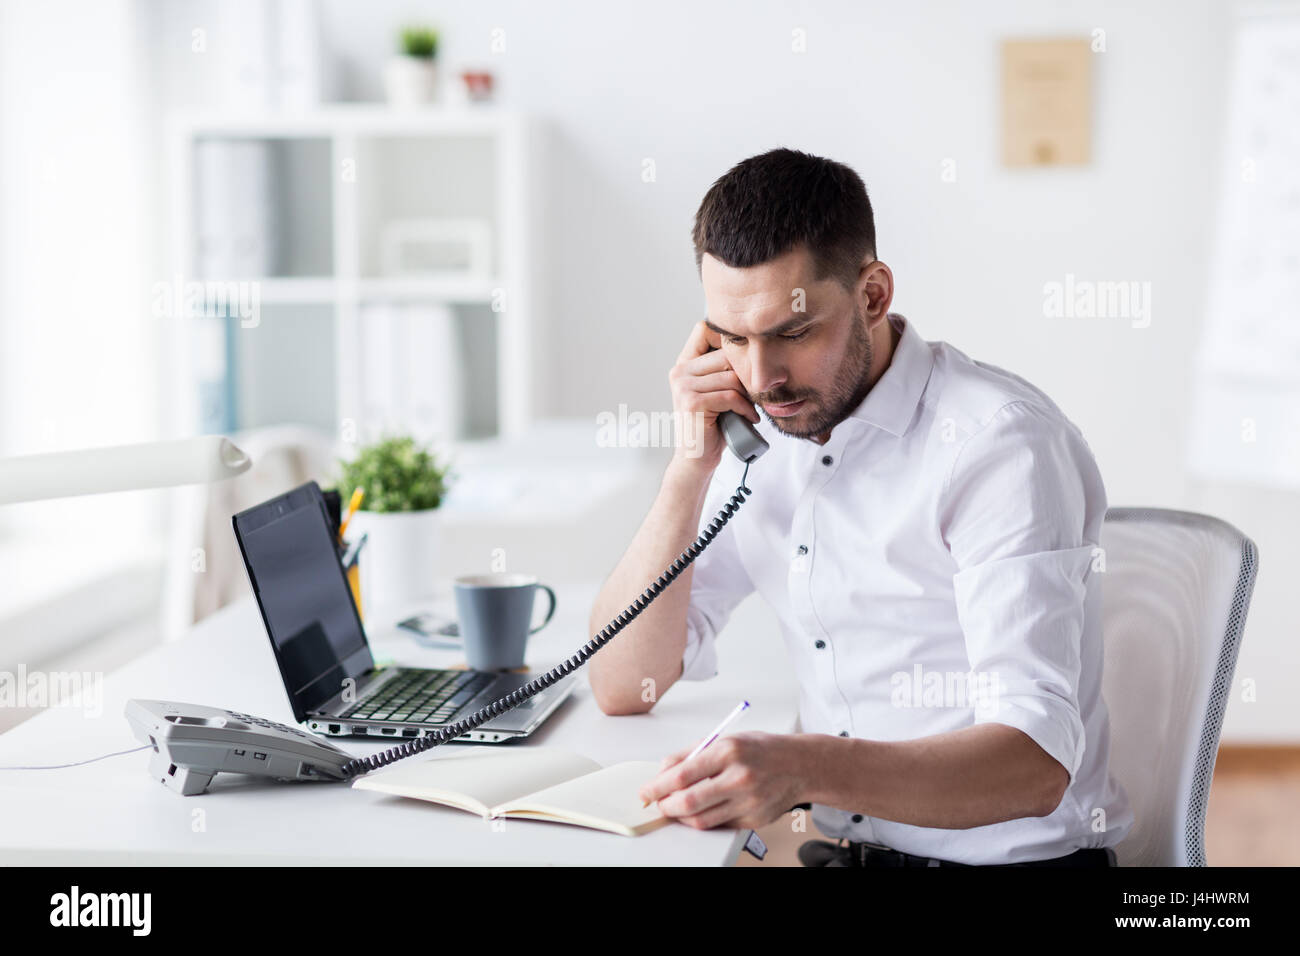
POLYGON ((1258 551, 1231 524, 1110 509, 1101 532, 1110 773, 1134 827, 1121 866, 1205 866, 1205 804, 1258 551))

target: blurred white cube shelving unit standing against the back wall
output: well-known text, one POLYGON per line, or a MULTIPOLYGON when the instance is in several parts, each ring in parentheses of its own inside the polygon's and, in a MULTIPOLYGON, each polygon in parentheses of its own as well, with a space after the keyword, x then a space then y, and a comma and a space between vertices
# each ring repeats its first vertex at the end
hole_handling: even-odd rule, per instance
MULTIPOLYGON (((473 415, 460 433, 448 437, 517 436, 528 428, 536 406, 526 139, 523 116, 491 108, 334 105, 294 114, 178 114, 172 124, 174 252, 168 282, 255 282, 259 329, 282 334, 260 341, 251 334, 237 337, 252 360, 235 362, 231 373, 256 371, 265 380, 269 369, 278 368, 286 381, 303 381, 303 405, 317 414, 322 394, 332 392, 333 421, 321 415, 308 424, 341 429, 352 420, 363 438, 372 431, 363 412, 369 384, 360 359, 367 307, 447 306, 460 336, 462 352, 454 356, 463 369, 460 405, 473 415), (225 217, 272 216, 278 250, 266 258, 274 261, 264 274, 202 274, 202 220, 213 202, 211 191, 200 191, 205 174, 200 147, 208 142, 266 144, 264 155, 276 169, 269 185, 264 183, 264 202, 246 198, 248 208, 220 211, 225 217), (378 255, 382 229, 386 222, 411 217, 488 222, 489 273, 385 274, 378 255), (313 325, 332 330, 312 341, 313 325), (286 354, 283 339, 294 336, 302 351, 286 354), (272 342, 278 342, 274 354, 257 352, 272 342), (316 363, 315 371, 292 367, 298 360, 316 363)), ((166 324, 170 427, 177 434, 192 433, 200 420, 202 323, 170 316, 166 324)), ((251 386, 233 384, 231 394, 240 388, 251 386)), ((247 421, 243 415, 237 419, 237 427, 257 424, 263 423, 247 421)))

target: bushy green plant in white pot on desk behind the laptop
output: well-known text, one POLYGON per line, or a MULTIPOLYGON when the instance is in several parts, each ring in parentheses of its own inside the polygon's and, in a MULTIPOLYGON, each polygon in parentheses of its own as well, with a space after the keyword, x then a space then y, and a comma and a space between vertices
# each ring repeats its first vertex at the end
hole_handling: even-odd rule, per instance
POLYGON ((342 501, 356 488, 365 492, 347 528, 351 541, 368 536, 360 555, 363 605, 382 610, 429 596, 450 468, 410 436, 384 438, 341 464, 342 501))

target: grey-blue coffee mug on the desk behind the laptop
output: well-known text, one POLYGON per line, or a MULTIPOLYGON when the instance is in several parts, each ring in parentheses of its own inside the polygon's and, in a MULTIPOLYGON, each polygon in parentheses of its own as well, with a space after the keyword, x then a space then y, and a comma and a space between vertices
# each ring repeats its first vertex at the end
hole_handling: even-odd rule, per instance
POLYGON ((476 671, 523 667, 528 636, 555 615, 555 592, 532 575, 465 575, 456 579, 455 591, 465 661, 476 671), (551 606, 546 620, 530 627, 538 588, 551 598, 551 606))

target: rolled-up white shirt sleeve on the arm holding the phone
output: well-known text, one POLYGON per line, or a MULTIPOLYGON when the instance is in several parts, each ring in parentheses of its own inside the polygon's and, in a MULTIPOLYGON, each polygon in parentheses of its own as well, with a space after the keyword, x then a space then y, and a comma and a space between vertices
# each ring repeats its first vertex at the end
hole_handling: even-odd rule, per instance
MULTIPOLYGON (((734 481, 720 481, 714 475, 699 515, 699 532, 718 516, 727 499, 736 492, 734 481)), ((734 520, 734 519, 733 519, 734 520)), ((682 680, 707 680, 718 675, 718 632, 731 613, 754 591, 736 544, 731 523, 714 537, 708 548, 692 563, 690 605, 686 609, 686 649, 681 656, 682 680)))

